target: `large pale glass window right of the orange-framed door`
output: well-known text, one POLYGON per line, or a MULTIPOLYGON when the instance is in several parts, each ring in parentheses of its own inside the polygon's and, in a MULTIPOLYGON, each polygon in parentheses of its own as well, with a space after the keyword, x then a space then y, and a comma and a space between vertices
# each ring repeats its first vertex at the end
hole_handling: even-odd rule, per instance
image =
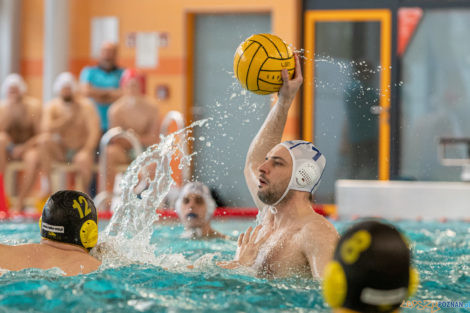
MULTIPOLYGON (((460 180, 440 164, 442 137, 470 137, 470 10, 425 10, 402 60, 403 178, 460 180)), ((468 157, 455 149, 453 158, 468 157)))

